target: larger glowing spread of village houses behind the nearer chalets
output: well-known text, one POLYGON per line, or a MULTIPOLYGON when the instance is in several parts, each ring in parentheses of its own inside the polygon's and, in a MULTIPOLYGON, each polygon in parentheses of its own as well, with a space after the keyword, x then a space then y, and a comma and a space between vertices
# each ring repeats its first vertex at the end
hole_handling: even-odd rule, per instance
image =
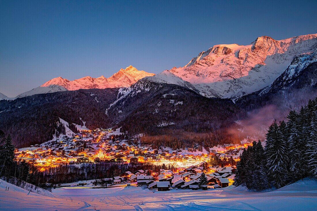
POLYGON ((109 162, 203 162, 211 156, 220 159, 239 159, 245 146, 226 146, 210 153, 192 154, 186 150, 154 150, 151 146, 140 146, 138 138, 126 138, 120 130, 83 130, 72 137, 37 144, 29 148, 16 149, 17 161, 26 161, 37 166, 109 162), (156 153, 155 153, 156 152, 156 153))

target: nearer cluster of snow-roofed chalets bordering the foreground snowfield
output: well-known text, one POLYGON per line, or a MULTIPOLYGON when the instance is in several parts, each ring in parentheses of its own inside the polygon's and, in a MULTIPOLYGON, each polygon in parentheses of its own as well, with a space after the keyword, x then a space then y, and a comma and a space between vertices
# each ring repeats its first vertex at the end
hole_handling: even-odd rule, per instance
POLYGON ((151 170, 126 171, 113 178, 115 184, 136 183, 149 189, 167 191, 170 188, 193 189, 224 188, 232 185, 235 179, 235 166, 213 167, 208 162, 201 162, 189 168, 177 168, 176 171, 160 169, 160 172, 151 170), (199 186, 202 173, 206 175, 207 182, 199 186))

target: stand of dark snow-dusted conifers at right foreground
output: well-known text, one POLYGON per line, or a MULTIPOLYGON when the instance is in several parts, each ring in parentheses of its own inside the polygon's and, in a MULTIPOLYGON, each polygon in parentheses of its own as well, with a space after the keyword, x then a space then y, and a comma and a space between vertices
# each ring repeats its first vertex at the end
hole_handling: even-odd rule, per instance
POLYGON ((317 177, 317 98, 288 121, 269 126, 266 145, 253 142, 240 156, 234 185, 260 191, 281 188, 307 176, 317 177))

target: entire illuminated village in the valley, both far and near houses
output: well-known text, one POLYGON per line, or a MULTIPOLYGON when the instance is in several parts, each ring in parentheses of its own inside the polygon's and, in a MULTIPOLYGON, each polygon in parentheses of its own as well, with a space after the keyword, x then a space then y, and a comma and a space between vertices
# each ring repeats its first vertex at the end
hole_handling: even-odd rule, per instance
MULTIPOLYGON (((108 178, 108 180, 112 184, 146 185, 148 188, 154 189, 159 189, 159 184, 163 185, 165 190, 168 190, 169 187, 195 189, 198 188, 199 178, 204 172, 208 180, 207 186, 221 188, 233 183, 236 167, 234 165, 211 166, 208 163, 210 158, 218 157, 221 160, 232 158, 234 161, 238 161, 240 153, 248 145, 249 143, 242 146, 226 145, 211 149, 209 153, 168 148, 155 150, 152 149, 152 146, 141 146, 139 137, 126 139, 125 135, 120 133, 120 129, 115 131, 97 129, 94 131, 82 130, 73 136, 55 138, 55 140, 41 145, 16 149, 15 155, 18 162, 32 163, 41 170, 58 165, 76 165, 102 161, 174 164, 178 167, 174 171, 168 169, 161 169, 160 172, 148 172, 148 170, 127 171, 121 173, 120 176, 108 178)), ((81 183, 81 185, 87 184, 81 183)))

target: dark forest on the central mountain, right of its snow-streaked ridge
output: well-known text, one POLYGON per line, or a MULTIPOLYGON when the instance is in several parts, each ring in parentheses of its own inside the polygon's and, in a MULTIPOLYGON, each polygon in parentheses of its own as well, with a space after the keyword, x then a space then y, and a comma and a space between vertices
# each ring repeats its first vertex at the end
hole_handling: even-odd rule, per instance
POLYGON ((148 135, 213 133, 244 116, 243 110, 229 99, 207 98, 189 89, 176 88, 179 87, 160 88, 120 122, 122 129, 148 135))

